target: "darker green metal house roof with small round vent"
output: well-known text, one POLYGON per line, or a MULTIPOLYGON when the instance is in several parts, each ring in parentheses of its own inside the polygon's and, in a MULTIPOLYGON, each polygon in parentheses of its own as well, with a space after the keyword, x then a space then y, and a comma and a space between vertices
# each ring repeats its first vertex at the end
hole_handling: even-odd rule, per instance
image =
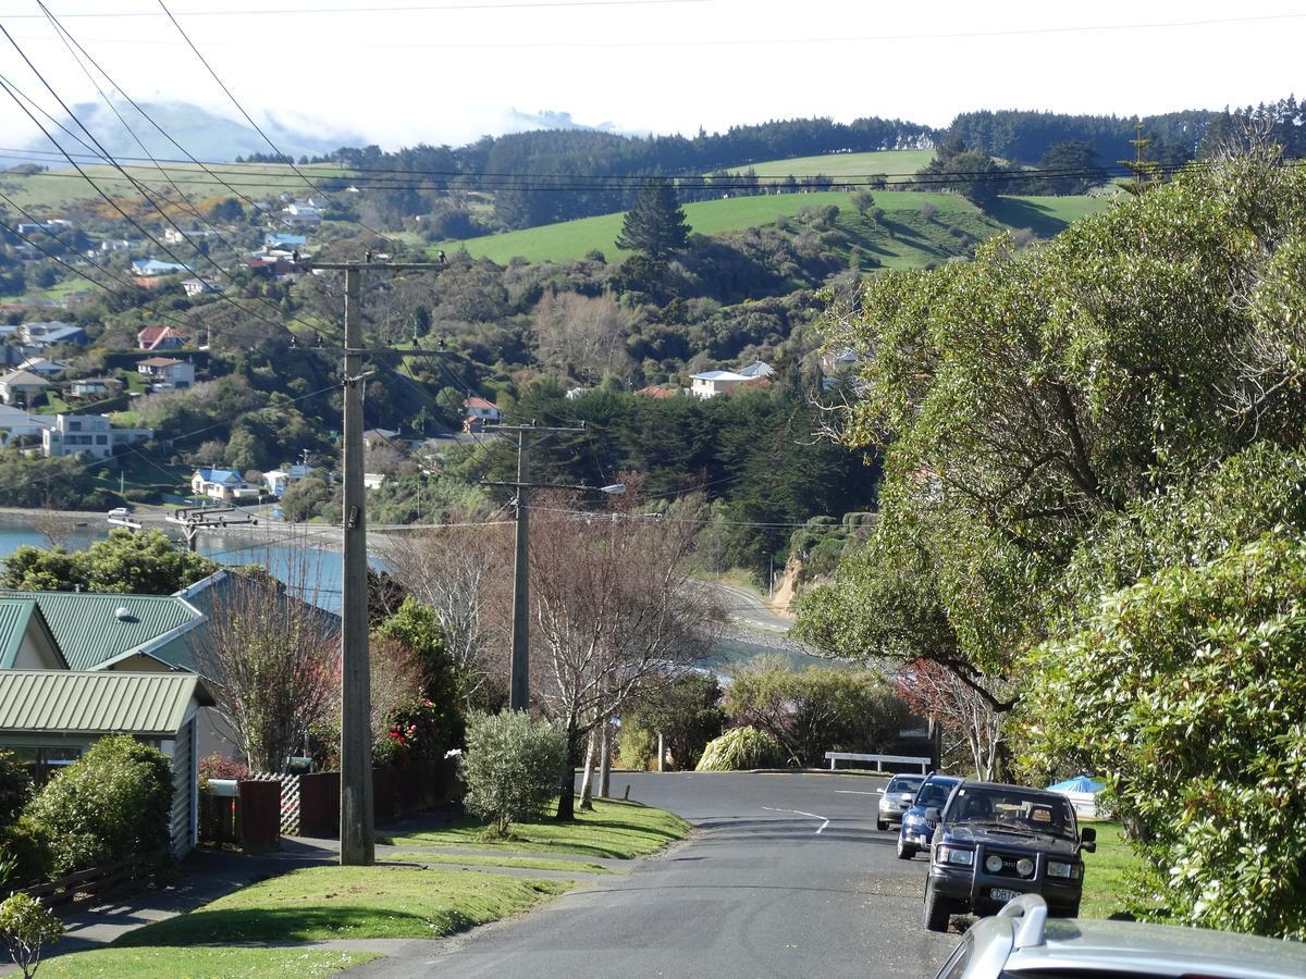
MULTIPOLYGON (((72 670, 94 670, 174 629, 202 621, 195 608, 172 595, 0 591, 0 599, 34 600, 72 670)), ((192 668, 189 662, 166 662, 192 668)))

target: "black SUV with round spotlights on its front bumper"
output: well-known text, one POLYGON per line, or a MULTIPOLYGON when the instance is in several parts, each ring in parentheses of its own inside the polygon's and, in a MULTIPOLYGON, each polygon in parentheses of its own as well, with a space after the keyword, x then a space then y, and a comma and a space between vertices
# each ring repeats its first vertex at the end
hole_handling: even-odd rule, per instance
POLYGON ((1075 807, 1057 792, 961 782, 939 813, 925 885, 925 927, 948 929, 948 916, 991 914, 1021 894, 1042 894, 1053 915, 1079 914, 1085 851, 1097 831, 1077 833, 1075 807))

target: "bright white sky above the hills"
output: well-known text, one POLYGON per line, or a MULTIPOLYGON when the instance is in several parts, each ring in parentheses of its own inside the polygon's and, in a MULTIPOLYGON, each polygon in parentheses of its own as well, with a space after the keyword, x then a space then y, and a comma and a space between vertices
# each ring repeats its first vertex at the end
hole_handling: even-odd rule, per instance
MULTIPOLYGON (((260 123, 387 149, 458 145, 554 112, 692 134, 798 116, 944 127, 976 108, 1221 108, 1290 94, 1306 40, 1306 4, 1286 0, 165 3, 260 123)), ((46 5, 136 101, 235 116, 158 0, 46 5)), ((0 25, 65 102, 97 98, 37 0, 4 0, 0 25)), ((0 73, 59 114, 3 37, 0 73)), ((30 142, 34 127, 0 102, 0 144, 30 142)))

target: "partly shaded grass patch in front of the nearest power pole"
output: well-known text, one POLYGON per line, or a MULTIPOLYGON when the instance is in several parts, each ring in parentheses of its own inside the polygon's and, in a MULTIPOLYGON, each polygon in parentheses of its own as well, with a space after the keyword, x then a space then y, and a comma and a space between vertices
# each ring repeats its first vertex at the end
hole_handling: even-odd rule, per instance
POLYGON ((307 867, 128 932, 115 944, 440 939, 525 911, 571 888, 568 881, 402 864, 307 867))

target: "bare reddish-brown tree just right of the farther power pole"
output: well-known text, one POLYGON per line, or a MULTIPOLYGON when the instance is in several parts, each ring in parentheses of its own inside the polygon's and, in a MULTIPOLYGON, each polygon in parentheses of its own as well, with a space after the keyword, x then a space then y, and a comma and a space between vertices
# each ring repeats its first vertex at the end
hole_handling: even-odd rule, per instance
MULTIPOLYGON (((721 621, 688 580, 701 500, 654 517, 641 513, 637 480, 623 482, 632 489, 606 512, 577 514, 556 496, 532 506, 532 685, 565 730, 572 764, 636 689, 701 659, 721 621)), ((572 815, 568 768, 558 817, 572 815)))

